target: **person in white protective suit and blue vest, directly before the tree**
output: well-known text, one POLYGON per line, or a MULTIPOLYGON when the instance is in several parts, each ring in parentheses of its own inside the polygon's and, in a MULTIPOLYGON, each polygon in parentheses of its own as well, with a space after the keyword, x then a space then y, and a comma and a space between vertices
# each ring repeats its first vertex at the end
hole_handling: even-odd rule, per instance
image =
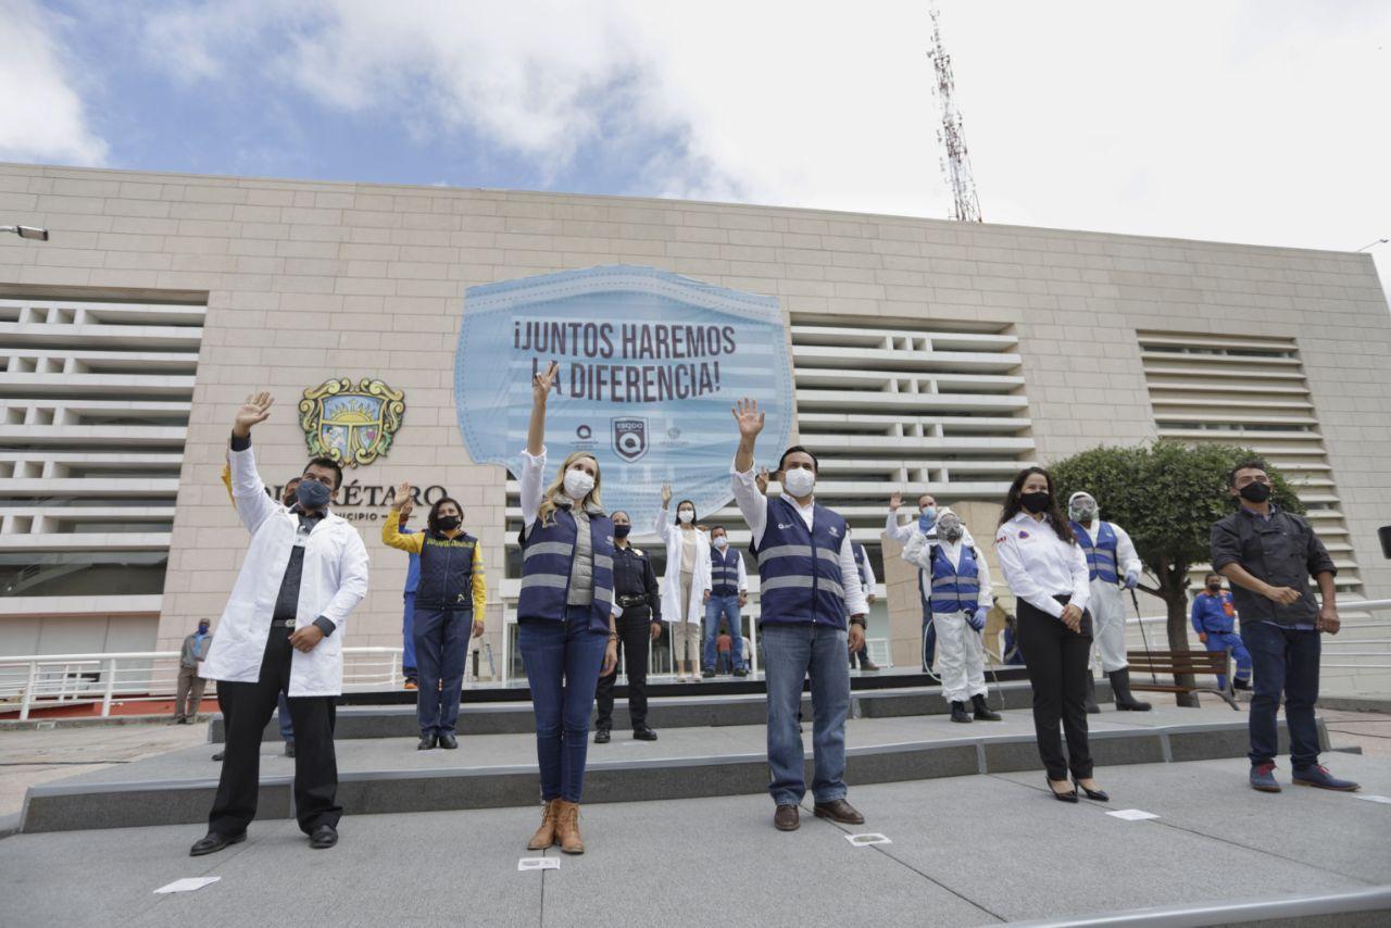
MULTIPOLYGON (((1102 658, 1102 672, 1111 682, 1116 708, 1148 712, 1149 703, 1141 703, 1129 691, 1129 661, 1125 659, 1125 605, 1121 587, 1134 590, 1139 584, 1143 566, 1135 554, 1135 544, 1125 529, 1113 522, 1102 522, 1096 499, 1089 493, 1074 493, 1067 501, 1077 543, 1086 554, 1086 568, 1092 577, 1092 598, 1086 608, 1092 614, 1092 636, 1102 658)), ((1096 705, 1096 680, 1092 666, 1086 666, 1086 711, 1100 712, 1096 705)))

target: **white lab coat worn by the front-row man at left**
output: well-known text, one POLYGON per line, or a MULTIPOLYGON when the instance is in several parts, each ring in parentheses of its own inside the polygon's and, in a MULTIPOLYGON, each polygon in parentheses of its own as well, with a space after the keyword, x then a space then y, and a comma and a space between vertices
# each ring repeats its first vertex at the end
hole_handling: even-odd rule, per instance
MULTIPOLYGON (((299 515, 266 495, 250 448, 232 451, 230 463, 236 515, 252 533, 252 543, 199 675, 209 680, 255 683, 266 653, 275 594, 295 547, 299 515)), ((334 633, 307 654, 294 653, 289 696, 342 693, 345 626, 348 615, 366 594, 367 547, 356 529, 330 512, 305 544, 295 627, 324 616, 334 623, 334 633)))

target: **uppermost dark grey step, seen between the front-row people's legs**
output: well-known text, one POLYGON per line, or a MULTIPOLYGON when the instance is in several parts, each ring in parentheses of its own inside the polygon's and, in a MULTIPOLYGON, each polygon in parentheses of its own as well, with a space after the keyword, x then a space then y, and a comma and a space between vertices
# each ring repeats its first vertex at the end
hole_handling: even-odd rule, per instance
MULTIPOLYGON (((530 701, 512 703, 470 703, 472 690, 465 691, 465 703, 459 707, 459 736, 473 735, 523 735, 536 732, 530 701)), ((858 689, 851 691, 855 703, 854 715, 867 718, 893 718, 900 715, 949 715, 951 705, 942 697, 940 686, 917 686, 896 689, 858 689)), ((992 708, 1018 710, 1031 705, 1028 682, 1003 682, 990 685, 992 708)), ((1096 700, 1100 704, 1111 701, 1110 683, 1096 683, 1096 700)), ((759 691, 709 696, 704 691, 691 694, 690 687, 682 696, 661 696, 648 700, 647 721, 658 730, 668 728, 722 728, 727 725, 762 725, 768 718, 766 694, 759 691)), ((416 737, 420 728, 416 723, 415 705, 339 705, 334 736, 338 740, 360 737, 416 737)), ((1109 711, 1109 710, 1107 710, 1109 711)), ((803 715, 811 718, 811 697, 803 696, 803 715)), ((593 723, 593 714, 590 717, 593 723)), ((627 700, 613 701, 613 730, 629 732, 633 722, 627 714, 627 700)), ((221 715, 209 721, 210 743, 225 740, 225 725, 221 715)), ((271 719, 262 733, 262 740, 280 740, 280 726, 271 719)))

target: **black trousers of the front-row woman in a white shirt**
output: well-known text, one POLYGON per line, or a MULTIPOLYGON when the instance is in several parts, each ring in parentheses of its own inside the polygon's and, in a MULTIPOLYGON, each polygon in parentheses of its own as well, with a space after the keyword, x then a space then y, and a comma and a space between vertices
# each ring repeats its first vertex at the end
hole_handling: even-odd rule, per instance
MULTIPOLYGON (((1067 602, 1067 597, 1057 597, 1067 602)), ((1086 662, 1092 651, 1092 616, 1082 614, 1078 634, 1047 612, 1018 601, 1018 643, 1024 653, 1029 686, 1034 687, 1034 733, 1049 779, 1092 775, 1092 749, 1086 742, 1086 662), (1067 733, 1067 757, 1057 723, 1067 733)))

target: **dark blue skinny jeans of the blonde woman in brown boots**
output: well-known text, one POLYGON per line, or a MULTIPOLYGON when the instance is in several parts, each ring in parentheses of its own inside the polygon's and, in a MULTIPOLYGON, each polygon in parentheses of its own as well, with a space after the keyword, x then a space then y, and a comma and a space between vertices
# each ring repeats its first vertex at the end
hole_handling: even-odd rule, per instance
POLYGON ((566 607, 565 621, 522 619, 517 647, 531 686, 536 714, 536 762, 541 799, 580 801, 590 710, 604 666, 608 634, 590 627, 590 607, 566 607))

